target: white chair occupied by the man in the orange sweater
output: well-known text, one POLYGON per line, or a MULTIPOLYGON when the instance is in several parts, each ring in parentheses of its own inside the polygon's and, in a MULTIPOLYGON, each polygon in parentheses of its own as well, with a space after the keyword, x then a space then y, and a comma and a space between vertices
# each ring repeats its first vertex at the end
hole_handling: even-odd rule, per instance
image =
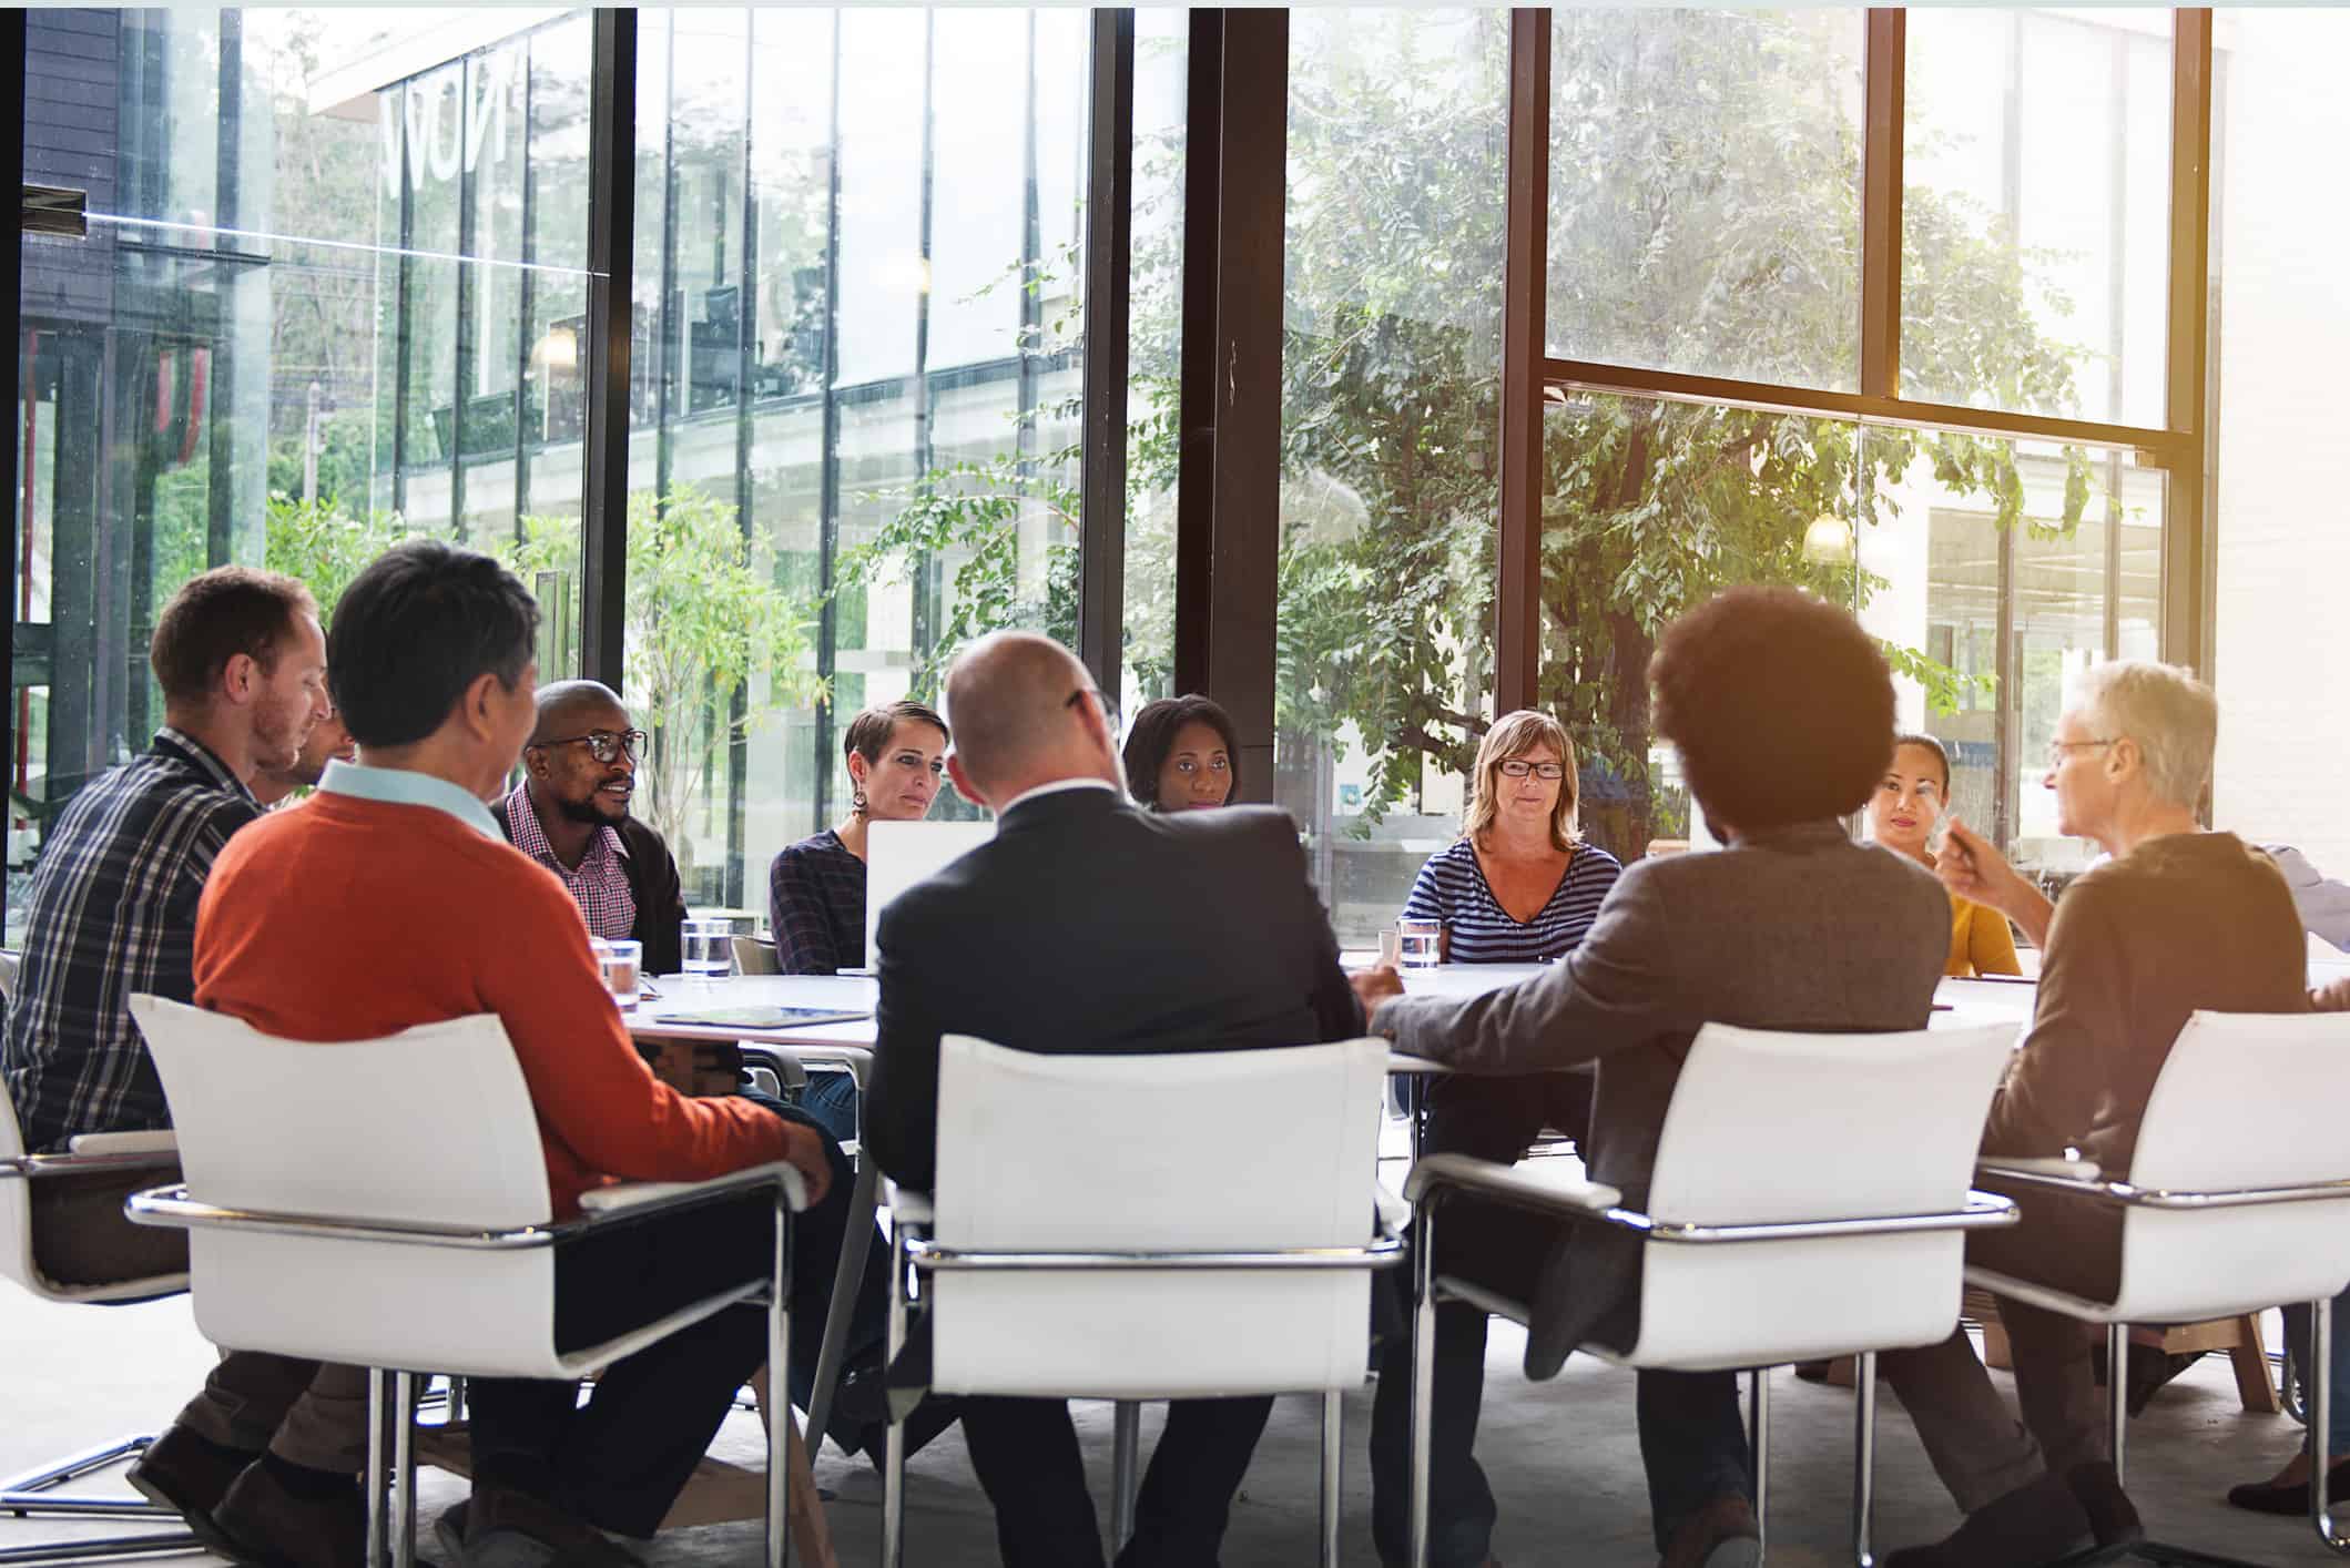
POLYGON ((186 1182, 132 1197, 188 1229, 195 1321, 226 1349, 369 1368, 367 1561, 416 1561, 418 1375, 578 1380, 745 1302, 768 1307, 766 1561, 787 1561, 790 1166, 627 1182, 552 1220, 522 1067, 494 1016, 388 1039, 273 1039, 226 1013, 132 997, 179 1128, 186 1182), (588 1349, 555 1345, 555 1251, 618 1225, 771 1192, 764 1279, 588 1349), (385 1413, 390 1455, 385 1455, 385 1413), (397 1488, 397 1490, 395 1490, 397 1488))

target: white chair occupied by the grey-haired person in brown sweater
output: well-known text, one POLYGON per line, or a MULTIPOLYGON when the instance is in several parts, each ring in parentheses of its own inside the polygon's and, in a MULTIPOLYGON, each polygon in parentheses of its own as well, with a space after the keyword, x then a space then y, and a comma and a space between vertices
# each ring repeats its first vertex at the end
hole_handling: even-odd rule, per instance
MULTIPOLYGON (((2195 1324, 2315 1302, 2310 1366, 2326 1366, 2334 1298, 2350 1284, 2350 1013, 2195 1013, 2178 1032, 2138 1121, 2129 1180, 2089 1164, 1986 1159, 1981 1175, 2122 1211, 2122 1288, 2110 1302, 1969 1267, 1993 1295, 2106 1326, 2106 1366, 2122 1368, 2131 1324, 2195 1324), (2289 1093, 2280 1093, 2289 1088, 2289 1093)), ((2113 1467, 2122 1469, 2129 1380, 2110 1387, 2113 1467)), ((2310 1526, 2350 1552, 2326 1497, 2329 1378, 2308 1380, 2310 1526)), ((2150 1563, 2240 1559, 2136 1542, 2150 1563)))

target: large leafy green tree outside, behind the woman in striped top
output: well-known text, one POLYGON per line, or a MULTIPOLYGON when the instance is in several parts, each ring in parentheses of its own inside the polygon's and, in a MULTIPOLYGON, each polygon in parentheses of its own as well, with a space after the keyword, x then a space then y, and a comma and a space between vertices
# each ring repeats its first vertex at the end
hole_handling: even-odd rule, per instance
MULTIPOLYGON (((1553 21, 1549 322, 1591 357, 1701 367, 1793 386, 1852 386, 1856 362, 1856 66, 1833 14, 1560 12, 1553 21)), ((1849 19, 1845 19, 1849 31, 1849 19)), ((1292 33, 1283 545, 1276 715, 1309 745, 1351 726, 1370 762, 1365 823, 1424 766, 1464 771, 1488 719, 1495 512, 1506 14, 1391 12, 1292 33)), ((1913 127, 1911 136, 1929 134, 1913 127)), ((1137 188, 1173 190, 1173 143, 1137 148, 1137 188)), ((2000 226, 1925 186, 1904 193, 1904 362, 1918 397, 2061 407, 2082 353, 2037 322, 2066 301, 2000 226), (2040 306, 2040 313, 2035 313, 2040 306)), ((1133 261, 1130 496, 1168 494, 1177 440, 1180 226, 1133 261)), ((1039 287, 1039 277, 1027 277, 1039 287)), ((947 555, 954 607, 931 665, 961 637, 1020 623, 1074 630, 1074 552, 1018 588, 1013 520, 1074 524, 1072 454, 1006 451, 895 491, 898 515, 844 581, 947 555)), ((2092 468, 2068 449, 2054 531, 2080 524, 2092 468)), ((2009 442, 1746 409, 1589 397, 1544 423, 1542 703, 1619 785, 1598 832, 1652 837, 1647 661, 1659 628, 1734 583, 1795 583, 1866 604, 1882 581, 1802 552, 1824 512, 1892 522, 1925 465, 2023 520, 2009 442)), ((1173 562, 1163 510, 1137 510, 1130 559, 1173 562)), ((1055 545, 1067 550, 1067 545, 1055 545)), ((1154 646, 1173 569, 1128 574, 1128 663, 1168 679, 1154 646)), ((1887 649, 1934 705, 1960 677, 1887 649)), ((1321 827, 1323 823, 1316 823, 1321 827)), ((1678 825, 1678 823, 1666 823, 1678 825)))

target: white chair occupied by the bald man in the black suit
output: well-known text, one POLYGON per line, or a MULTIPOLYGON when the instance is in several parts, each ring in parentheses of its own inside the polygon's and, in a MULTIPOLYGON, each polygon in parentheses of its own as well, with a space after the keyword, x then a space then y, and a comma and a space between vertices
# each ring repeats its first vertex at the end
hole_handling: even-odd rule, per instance
MULTIPOLYGON (((1337 1561, 1340 1394, 1363 1382, 1386 1041, 1039 1056, 949 1034, 938 1192, 891 1194, 891 1338, 909 1276, 931 1389, 1119 1401, 1112 1547, 1133 1533, 1137 1401, 1321 1394, 1321 1561, 1337 1561), (1229 1333, 1201 1333, 1222 1324, 1229 1333)), ((881 1561, 905 1547, 905 1429, 881 1561)))

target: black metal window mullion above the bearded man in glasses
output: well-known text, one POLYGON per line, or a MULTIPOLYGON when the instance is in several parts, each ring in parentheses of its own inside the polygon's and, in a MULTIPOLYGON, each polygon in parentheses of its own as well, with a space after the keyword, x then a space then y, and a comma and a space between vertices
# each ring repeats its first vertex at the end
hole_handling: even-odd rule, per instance
POLYGON ((580 668, 620 691, 627 618, 627 386, 637 228, 637 12, 595 12, 588 125, 588 421, 580 668))

